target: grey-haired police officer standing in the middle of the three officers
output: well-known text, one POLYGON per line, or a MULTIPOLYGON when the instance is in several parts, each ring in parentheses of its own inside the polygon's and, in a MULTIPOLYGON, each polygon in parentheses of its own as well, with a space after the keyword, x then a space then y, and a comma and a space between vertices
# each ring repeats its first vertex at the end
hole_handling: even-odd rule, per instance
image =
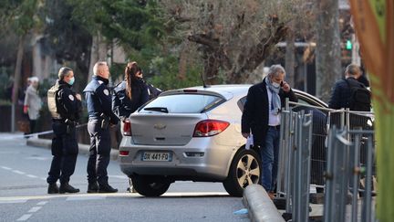
POLYGON ((108 183, 110 135, 109 124, 118 123, 111 110, 109 93, 109 67, 106 62, 97 62, 93 67, 93 78, 84 93, 88 105, 88 132, 90 155, 88 158, 88 193, 115 193, 118 189, 108 183))

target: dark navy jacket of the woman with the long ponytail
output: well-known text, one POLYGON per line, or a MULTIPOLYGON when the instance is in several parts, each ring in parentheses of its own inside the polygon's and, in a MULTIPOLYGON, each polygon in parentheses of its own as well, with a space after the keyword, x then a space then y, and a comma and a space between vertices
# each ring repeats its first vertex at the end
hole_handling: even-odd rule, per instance
POLYGON ((112 111, 124 119, 137 111, 140 106, 149 100, 148 86, 142 79, 133 79, 131 84, 131 100, 126 93, 126 81, 121 81, 114 89, 112 96, 112 111))

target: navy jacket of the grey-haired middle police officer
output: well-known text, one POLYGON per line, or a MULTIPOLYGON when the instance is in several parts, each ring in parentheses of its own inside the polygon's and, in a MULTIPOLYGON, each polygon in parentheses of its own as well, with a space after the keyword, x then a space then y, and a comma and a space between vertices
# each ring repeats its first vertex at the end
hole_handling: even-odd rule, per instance
POLYGON ((112 124, 118 123, 118 117, 112 112, 111 94, 108 88, 109 79, 93 76, 83 90, 88 106, 89 118, 99 118, 102 113, 110 118, 112 124))

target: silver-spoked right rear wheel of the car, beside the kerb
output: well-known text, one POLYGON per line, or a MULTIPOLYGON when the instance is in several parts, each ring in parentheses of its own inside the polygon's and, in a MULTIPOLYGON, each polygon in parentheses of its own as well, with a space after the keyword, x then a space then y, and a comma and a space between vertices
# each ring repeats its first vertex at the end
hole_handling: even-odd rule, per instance
POLYGON ((224 189, 231 196, 243 196, 244 188, 258 184, 261 163, 254 150, 241 150, 236 153, 227 178, 223 181, 224 189))

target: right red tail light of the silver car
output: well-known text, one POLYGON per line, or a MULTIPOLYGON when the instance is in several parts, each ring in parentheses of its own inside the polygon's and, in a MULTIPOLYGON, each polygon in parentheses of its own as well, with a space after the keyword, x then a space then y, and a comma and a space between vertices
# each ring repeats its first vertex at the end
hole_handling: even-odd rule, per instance
POLYGON ((215 120, 198 122, 194 129, 193 137, 213 136, 223 132, 229 125, 229 122, 215 120))

